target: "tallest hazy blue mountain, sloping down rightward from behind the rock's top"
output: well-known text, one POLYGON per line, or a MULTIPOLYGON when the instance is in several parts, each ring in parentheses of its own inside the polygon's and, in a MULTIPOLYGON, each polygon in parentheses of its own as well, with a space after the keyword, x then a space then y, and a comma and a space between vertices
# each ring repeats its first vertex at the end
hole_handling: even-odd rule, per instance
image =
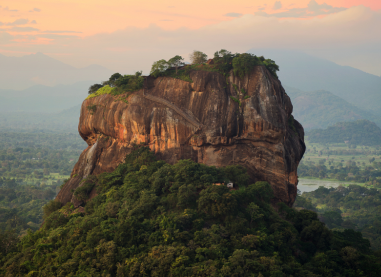
POLYGON ((298 51, 251 49, 248 52, 274 60, 279 65, 278 76, 283 85, 302 91, 329 91, 362 110, 381 116, 380 76, 298 51))

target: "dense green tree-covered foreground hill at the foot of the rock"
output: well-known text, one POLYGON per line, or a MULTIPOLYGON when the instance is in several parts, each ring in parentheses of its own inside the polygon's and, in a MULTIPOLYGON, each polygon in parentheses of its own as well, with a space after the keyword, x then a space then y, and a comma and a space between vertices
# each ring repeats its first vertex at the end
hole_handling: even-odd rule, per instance
POLYGON ((361 233, 332 232, 313 211, 279 204, 239 166, 156 161, 140 148, 46 205, 40 230, 0 237, 0 276, 377 276, 380 254, 361 233), (238 190, 214 185, 231 180, 238 190), (98 195, 87 199, 88 192, 98 195))

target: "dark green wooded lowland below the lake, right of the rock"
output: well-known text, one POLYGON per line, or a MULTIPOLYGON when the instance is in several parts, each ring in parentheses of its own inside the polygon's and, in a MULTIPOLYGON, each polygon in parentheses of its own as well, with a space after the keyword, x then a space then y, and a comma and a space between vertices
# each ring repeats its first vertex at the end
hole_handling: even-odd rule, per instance
POLYGON ((355 229, 381 250, 381 191, 358 185, 319 187, 298 196, 294 207, 317 211, 327 227, 344 231, 355 229))

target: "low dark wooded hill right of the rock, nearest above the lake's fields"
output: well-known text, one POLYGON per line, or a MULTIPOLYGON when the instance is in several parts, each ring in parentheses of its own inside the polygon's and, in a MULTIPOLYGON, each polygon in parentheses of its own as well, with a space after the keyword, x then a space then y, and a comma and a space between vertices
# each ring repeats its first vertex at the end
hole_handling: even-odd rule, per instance
POLYGON ((381 129, 369 120, 339 122, 327 129, 306 132, 310 143, 350 143, 351 145, 381 145, 381 129))

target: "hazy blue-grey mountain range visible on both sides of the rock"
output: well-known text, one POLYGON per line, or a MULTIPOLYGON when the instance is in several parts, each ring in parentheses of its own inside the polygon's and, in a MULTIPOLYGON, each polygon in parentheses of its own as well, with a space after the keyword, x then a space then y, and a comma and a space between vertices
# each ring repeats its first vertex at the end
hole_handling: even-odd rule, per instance
MULTIPOLYGON (((279 65, 279 79, 291 97, 294 117, 306 130, 357 119, 381 126, 380 76, 302 52, 271 49, 248 52, 264 55, 279 65)), ((88 87, 114 73, 99 65, 77 69, 42 53, 24 57, 0 54, 0 70, 0 112, 19 111, 25 117, 74 106, 78 113, 88 87)))

